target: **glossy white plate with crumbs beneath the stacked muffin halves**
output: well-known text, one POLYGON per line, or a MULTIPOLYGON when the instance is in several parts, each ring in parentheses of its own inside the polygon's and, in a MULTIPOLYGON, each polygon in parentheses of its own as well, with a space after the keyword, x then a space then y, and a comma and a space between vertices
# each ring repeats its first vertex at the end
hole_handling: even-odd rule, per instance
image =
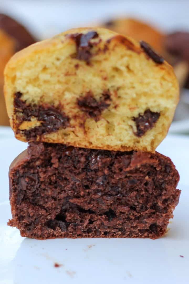
POLYGON ((11 218, 8 167, 26 146, 12 138, 0 141, 0 284, 189 283, 188 138, 169 135, 158 147, 176 164, 182 189, 170 231, 158 240, 20 237, 6 225, 11 218))

